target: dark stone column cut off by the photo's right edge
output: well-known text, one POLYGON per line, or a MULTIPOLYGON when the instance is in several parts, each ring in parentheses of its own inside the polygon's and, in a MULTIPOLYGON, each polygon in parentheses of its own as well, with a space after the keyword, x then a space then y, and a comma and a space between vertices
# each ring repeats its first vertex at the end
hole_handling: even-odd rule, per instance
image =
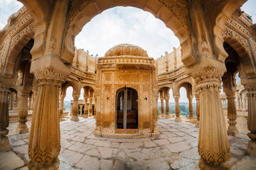
MULTIPOLYGON (((241 82, 242 83, 242 82, 241 82)), ((247 144, 246 152, 252 156, 256 156, 256 80, 245 84, 248 97, 248 120, 247 127, 250 132, 247 134, 250 141, 247 144)))

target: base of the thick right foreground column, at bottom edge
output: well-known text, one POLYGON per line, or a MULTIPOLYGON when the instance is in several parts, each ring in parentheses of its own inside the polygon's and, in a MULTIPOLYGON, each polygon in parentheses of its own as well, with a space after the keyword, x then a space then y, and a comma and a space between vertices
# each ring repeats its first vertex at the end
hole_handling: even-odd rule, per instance
POLYGON ((230 169, 230 165, 227 162, 214 165, 214 164, 208 164, 204 162, 202 158, 199 160, 198 165, 200 169, 204 169, 204 170, 229 170, 230 169))

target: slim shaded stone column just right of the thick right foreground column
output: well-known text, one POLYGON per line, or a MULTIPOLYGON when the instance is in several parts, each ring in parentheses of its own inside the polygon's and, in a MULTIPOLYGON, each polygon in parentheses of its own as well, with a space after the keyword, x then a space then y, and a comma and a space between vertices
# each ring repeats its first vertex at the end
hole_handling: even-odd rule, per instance
POLYGON ((238 135, 237 124, 237 112, 235 108, 235 91, 233 90, 224 90, 227 99, 228 99, 228 135, 235 136, 238 135))

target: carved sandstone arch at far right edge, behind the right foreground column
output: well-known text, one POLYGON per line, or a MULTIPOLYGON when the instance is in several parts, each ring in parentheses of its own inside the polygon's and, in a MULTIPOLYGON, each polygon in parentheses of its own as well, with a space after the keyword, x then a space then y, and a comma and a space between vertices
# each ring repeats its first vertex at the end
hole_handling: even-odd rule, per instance
POLYGON ((240 77, 256 77, 253 55, 250 51, 247 40, 228 28, 223 30, 223 40, 233 47, 233 50, 238 53, 240 63, 236 62, 236 64, 238 65, 240 77))

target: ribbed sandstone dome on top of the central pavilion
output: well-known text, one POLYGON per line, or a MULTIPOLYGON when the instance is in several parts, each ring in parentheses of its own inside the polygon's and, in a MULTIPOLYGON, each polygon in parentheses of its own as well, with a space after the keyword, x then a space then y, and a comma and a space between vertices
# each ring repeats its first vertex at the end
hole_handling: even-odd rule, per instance
POLYGON ((110 50, 106 52, 105 57, 119 56, 119 55, 149 57, 146 50, 143 50, 142 47, 139 47, 137 45, 130 45, 130 44, 115 45, 114 47, 110 48, 110 50))

